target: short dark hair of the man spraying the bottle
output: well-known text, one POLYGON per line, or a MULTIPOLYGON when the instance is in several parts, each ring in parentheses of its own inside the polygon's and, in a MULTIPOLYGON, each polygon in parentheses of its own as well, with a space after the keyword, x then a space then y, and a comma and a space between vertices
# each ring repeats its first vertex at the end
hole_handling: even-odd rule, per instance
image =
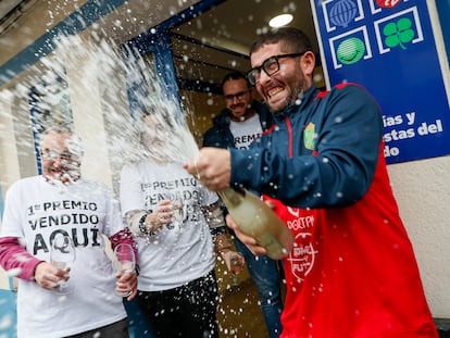
POLYGON ((250 55, 264 45, 282 42, 286 53, 302 53, 313 50, 310 38, 303 30, 295 27, 282 27, 260 35, 250 48, 250 55))

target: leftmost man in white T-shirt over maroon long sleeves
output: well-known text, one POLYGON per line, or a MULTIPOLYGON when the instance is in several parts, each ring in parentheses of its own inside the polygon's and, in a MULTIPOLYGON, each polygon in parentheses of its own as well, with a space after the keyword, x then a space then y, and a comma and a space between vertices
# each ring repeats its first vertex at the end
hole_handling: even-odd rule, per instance
POLYGON ((0 234, 0 265, 18 277, 17 337, 126 338, 126 312, 114 289, 128 291, 132 300, 137 276, 115 275, 102 236, 113 248, 134 246, 118 203, 103 184, 82 178, 83 150, 71 129, 47 129, 39 152, 42 175, 7 191, 0 234), (50 263, 59 234, 68 235, 76 253, 63 270, 50 263), (66 293, 60 293, 61 284, 66 293))

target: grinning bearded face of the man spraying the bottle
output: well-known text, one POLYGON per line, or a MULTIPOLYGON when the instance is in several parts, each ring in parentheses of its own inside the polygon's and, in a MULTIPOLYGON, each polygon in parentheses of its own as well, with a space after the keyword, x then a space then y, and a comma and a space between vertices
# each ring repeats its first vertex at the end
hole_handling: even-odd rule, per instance
MULTIPOLYGON (((274 55, 284 55, 301 51, 284 51, 282 42, 266 43, 253 51, 250 57, 252 67, 260 67, 264 61, 274 55)), ((312 85, 314 53, 305 52, 302 57, 278 59, 279 70, 268 76, 261 71, 255 87, 273 113, 296 103, 312 85)))

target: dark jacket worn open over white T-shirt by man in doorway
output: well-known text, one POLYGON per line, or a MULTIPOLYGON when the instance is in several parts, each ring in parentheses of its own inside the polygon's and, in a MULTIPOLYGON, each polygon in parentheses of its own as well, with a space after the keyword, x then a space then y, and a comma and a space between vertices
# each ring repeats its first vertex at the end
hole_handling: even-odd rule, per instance
MULTIPOLYGON (((265 132, 275 122, 267 107, 257 100, 252 105, 260 116, 261 127, 265 132)), ((217 116, 213 118, 213 126, 207 130, 203 136, 203 147, 215 148, 235 148, 235 140, 229 130, 230 113, 228 109, 224 109, 217 116)))

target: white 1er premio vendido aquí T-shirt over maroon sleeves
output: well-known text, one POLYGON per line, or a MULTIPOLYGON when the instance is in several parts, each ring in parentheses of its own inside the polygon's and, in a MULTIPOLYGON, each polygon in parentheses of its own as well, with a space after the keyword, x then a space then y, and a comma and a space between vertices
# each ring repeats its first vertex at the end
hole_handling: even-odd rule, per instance
POLYGON ((115 274, 102 235, 124 228, 117 201, 100 183, 79 179, 55 186, 42 176, 18 180, 7 192, 2 237, 23 239, 26 250, 50 262, 50 240, 66 233, 76 245, 70 293, 58 295, 18 279, 17 337, 60 338, 126 317, 114 295, 115 274))

